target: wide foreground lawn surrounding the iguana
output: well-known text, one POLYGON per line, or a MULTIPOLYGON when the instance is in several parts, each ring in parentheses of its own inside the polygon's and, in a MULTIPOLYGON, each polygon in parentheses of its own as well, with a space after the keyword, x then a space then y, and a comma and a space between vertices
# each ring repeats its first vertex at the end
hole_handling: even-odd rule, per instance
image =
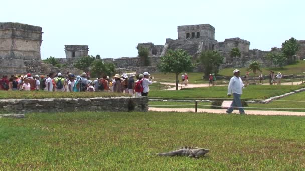
POLYGON ((305 117, 28 114, 0 122, 0 170, 301 170, 305 117), (194 145, 205 157, 157 157, 194 145))

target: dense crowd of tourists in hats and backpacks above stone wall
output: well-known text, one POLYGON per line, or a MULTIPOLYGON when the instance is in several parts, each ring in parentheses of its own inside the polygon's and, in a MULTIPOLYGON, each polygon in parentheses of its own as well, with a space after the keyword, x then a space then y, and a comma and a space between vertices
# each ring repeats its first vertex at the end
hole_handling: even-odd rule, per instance
POLYGON ((6 91, 50 91, 50 92, 116 92, 128 93, 133 96, 147 96, 149 85, 153 84, 151 76, 148 72, 143 74, 126 73, 113 77, 102 76, 95 80, 90 80, 87 73, 74 75, 67 72, 50 73, 46 76, 35 75, 31 73, 26 75, 7 75, 0 79, 0 90, 6 91))

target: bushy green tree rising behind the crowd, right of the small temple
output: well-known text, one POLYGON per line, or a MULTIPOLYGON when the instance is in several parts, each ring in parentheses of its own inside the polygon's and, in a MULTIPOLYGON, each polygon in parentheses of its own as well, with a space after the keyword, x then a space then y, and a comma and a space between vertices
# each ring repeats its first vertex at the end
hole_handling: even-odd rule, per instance
POLYGON ((113 63, 104 63, 103 60, 97 59, 92 63, 91 70, 97 77, 111 76, 115 73, 115 66, 113 63))

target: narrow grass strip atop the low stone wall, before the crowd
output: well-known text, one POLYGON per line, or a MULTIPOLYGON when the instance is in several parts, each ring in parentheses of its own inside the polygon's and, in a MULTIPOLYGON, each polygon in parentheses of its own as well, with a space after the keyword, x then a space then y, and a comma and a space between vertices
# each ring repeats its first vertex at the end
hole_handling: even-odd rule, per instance
POLYGON ((0 91, 0 99, 42 99, 42 98, 95 98, 129 96, 106 92, 46 92, 46 91, 0 91))

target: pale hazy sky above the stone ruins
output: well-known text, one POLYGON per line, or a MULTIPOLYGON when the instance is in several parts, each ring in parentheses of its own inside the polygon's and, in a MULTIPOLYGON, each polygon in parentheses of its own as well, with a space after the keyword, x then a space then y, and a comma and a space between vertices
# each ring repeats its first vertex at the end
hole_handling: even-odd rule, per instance
POLYGON ((209 23, 215 39, 240 37, 269 50, 305 39, 304 0, 2 0, 0 22, 43 28, 42 59, 64 45, 89 45, 102 58, 135 57, 138 43, 164 45, 178 25, 209 23))

